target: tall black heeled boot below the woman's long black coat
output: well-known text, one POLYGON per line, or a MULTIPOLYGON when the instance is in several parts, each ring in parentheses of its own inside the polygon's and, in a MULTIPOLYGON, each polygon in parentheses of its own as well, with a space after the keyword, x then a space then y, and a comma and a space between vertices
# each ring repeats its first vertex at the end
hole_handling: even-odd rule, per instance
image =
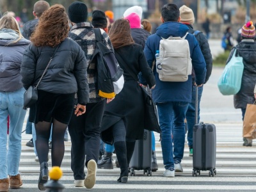
POLYGON ((116 150, 116 157, 120 165, 120 177, 117 182, 127 182, 128 181, 128 164, 127 164, 127 154, 126 154, 126 144, 125 141, 118 141, 114 143, 116 150))

